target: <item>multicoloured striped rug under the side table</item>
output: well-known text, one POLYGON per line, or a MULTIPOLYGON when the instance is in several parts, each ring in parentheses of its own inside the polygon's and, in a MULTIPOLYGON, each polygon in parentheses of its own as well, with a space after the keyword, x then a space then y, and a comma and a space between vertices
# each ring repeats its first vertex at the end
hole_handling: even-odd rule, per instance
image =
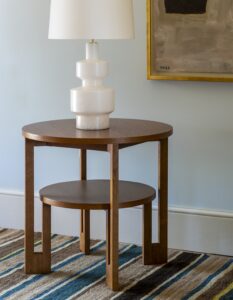
MULTIPOLYGON (((105 285, 105 242, 92 241, 91 255, 79 239, 52 235, 52 273, 25 275, 23 231, 0 229, 0 299, 233 299, 233 258, 169 251, 161 266, 143 266, 141 247, 120 245, 122 290, 105 285)), ((40 251, 40 234, 35 234, 40 251)))

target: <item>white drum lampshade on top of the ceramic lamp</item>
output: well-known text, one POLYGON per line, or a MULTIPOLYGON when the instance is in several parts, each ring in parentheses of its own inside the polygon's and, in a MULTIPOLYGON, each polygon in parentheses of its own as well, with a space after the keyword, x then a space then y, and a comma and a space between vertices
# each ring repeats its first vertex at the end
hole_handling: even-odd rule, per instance
POLYGON ((132 0, 51 0, 50 39, 131 39, 132 0))

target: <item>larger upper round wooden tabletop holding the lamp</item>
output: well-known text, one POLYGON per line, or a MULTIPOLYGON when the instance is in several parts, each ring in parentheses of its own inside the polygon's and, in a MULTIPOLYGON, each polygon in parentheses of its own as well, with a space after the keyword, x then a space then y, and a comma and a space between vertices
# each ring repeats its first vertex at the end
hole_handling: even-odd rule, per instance
POLYGON ((40 122, 23 127, 27 139, 70 145, 133 144, 159 141, 173 133, 172 126, 155 121, 110 119, 105 130, 76 129, 75 119, 40 122))

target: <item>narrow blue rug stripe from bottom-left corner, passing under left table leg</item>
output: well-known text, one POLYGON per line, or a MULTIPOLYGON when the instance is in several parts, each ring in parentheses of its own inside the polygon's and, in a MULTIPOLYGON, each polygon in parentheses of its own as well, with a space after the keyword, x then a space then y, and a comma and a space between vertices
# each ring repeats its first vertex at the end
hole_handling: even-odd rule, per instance
MULTIPOLYGON (((105 241, 103 241, 101 244, 98 244, 97 246, 93 246, 91 250, 92 250, 92 251, 96 251, 96 250, 98 250, 99 248, 101 248, 104 244, 105 244, 105 241)), ((74 256, 72 259, 70 259, 70 260, 65 259, 65 262, 66 262, 66 263, 60 264, 60 265, 64 266, 64 265, 66 265, 66 264, 69 264, 70 262, 72 262, 72 261, 74 261, 74 260, 78 260, 79 258, 83 257, 84 255, 85 255, 84 253, 80 252, 80 253, 78 253, 77 255, 75 255, 75 256, 74 256)), ((61 267, 60 267, 60 268, 61 268, 61 267)), ((54 269, 52 269, 52 271, 54 271, 55 269, 57 270, 58 268, 55 267, 54 269)), ((26 287, 27 287, 28 285, 30 285, 31 283, 34 283, 34 282, 40 280, 40 279, 43 278, 43 277, 44 277, 44 275, 42 275, 42 274, 34 275, 32 278, 29 277, 29 279, 26 280, 24 283, 20 284, 19 286, 17 286, 17 287, 15 287, 15 288, 11 289, 10 291, 8 291, 8 292, 6 292, 6 293, 4 293, 4 294, 2 295, 3 299, 4 299, 5 297, 9 297, 9 296, 15 294, 16 292, 18 292, 18 291, 20 291, 20 290, 26 288, 26 287)))

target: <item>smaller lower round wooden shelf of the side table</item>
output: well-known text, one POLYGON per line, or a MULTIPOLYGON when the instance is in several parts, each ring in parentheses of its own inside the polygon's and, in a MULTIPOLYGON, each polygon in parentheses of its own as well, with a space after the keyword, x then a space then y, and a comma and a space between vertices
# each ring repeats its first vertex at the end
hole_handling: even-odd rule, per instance
MULTIPOLYGON (((119 181, 119 208, 151 202, 155 189, 136 182, 119 181)), ((49 185, 40 190, 42 202, 74 209, 110 209, 110 181, 70 181, 49 185)))

